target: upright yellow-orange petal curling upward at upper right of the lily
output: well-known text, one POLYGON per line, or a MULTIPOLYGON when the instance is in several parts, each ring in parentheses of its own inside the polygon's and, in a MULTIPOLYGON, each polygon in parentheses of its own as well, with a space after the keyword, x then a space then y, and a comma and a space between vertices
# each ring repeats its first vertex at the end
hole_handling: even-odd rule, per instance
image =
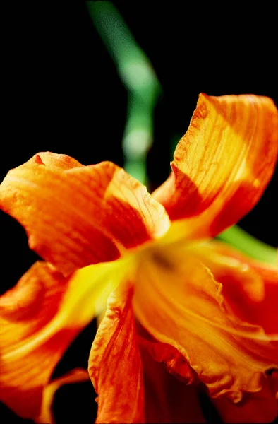
POLYGON ((217 235, 260 199, 277 149, 278 111, 270 98, 201 94, 176 147, 173 172, 152 196, 171 220, 191 218, 176 223, 177 237, 217 235))

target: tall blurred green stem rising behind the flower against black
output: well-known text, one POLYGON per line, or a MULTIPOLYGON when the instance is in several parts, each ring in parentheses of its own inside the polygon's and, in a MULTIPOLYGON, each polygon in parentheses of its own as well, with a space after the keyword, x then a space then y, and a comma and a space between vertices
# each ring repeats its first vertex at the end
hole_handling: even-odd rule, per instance
POLYGON ((124 167, 147 184, 146 156, 153 141, 153 111, 162 88, 149 59, 111 1, 88 1, 92 21, 128 91, 123 132, 124 167))

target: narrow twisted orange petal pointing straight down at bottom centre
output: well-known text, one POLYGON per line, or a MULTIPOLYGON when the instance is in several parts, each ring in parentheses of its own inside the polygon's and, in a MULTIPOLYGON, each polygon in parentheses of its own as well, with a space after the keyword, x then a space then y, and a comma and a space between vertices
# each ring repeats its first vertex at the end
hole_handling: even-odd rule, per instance
POLYGON ((98 394, 97 423, 144 423, 143 369, 132 308, 133 290, 111 294, 97 330, 89 374, 98 394))

